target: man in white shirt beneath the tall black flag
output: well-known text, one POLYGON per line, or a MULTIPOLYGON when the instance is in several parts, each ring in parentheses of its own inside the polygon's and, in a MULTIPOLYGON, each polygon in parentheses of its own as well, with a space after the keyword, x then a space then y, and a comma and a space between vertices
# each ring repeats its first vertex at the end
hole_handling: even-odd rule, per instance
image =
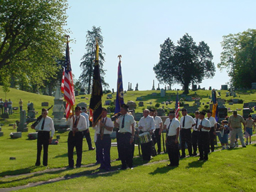
POLYGON ((107 109, 102 108, 102 118, 96 125, 95 132, 97 132, 96 153, 100 159, 100 169, 110 171, 110 147, 114 124, 111 119, 107 117, 107 109))

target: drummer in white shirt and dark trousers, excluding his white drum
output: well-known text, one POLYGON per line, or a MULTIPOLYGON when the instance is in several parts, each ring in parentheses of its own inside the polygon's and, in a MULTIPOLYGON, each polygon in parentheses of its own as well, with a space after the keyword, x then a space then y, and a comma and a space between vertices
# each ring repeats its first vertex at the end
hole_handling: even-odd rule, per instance
MULTIPOLYGON (((155 129, 155 122, 154 118, 149 116, 149 110, 143 111, 143 117, 139 120, 138 127, 140 134, 144 132, 148 132, 149 134, 152 134, 152 132, 155 129)), ((151 160, 151 152, 153 143, 152 141, 149 141, 147 143, 144 143, 142 146, 142 158, 144 161, 150 161, 151 160)))

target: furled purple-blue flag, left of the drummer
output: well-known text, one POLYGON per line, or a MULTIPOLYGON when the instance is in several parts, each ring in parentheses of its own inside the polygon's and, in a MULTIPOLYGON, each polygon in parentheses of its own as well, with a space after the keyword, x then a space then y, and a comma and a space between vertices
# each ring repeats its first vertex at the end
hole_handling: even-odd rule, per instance
POLYGON ((122 85, 121 60, 119 60, 118 72, 117 72, 117 97, 116 97, 116 106, 114 109, 114 114, 117 114, 121 111, 122 104, 124 104, 124 89, 122 85))

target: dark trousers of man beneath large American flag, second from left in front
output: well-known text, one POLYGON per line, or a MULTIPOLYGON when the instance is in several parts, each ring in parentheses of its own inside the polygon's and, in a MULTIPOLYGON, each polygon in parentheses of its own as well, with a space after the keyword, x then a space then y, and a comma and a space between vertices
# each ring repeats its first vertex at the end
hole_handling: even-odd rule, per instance
POLYGON ((75 132, 75 136, 73 136, 73 132, 68 133, 68 166, 74 167, 74 147, 77 153, 77 163, 75 166, 81 166, 82 161, 82 132, 75 132))

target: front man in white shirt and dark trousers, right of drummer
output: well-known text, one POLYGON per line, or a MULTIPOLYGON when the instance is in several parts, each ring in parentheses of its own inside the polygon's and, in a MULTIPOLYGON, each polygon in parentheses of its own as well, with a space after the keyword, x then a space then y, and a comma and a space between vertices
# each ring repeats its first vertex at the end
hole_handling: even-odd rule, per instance
POLYGON ((169 155, 170 164, 168 166, 178 166, 178 134, 180 122, 175 118, 175 112, 169 112, 169 118, 164 122, 164 129, 169 129, 166 137, 166 148, 169 155))

